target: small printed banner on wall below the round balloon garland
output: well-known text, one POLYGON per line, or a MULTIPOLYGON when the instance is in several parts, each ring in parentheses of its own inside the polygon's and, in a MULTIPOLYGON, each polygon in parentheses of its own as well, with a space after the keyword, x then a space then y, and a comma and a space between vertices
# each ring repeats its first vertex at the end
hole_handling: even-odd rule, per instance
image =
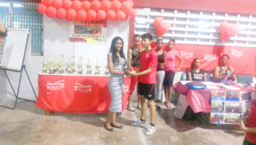
POLYGON ((70 21, 70 42, 106 42, 106 21, 70 21))

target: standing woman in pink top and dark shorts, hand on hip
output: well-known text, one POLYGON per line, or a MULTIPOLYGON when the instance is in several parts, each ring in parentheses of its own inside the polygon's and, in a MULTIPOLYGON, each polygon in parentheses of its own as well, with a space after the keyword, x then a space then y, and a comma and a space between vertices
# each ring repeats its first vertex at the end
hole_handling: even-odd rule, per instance
POLYGON ((166 107, 168 109, 172 109, 170 105, 170 101, 172 99, 172 84, 174 83, 174 76, 175 73, 180 71, 182 68, 183 60, 180 56, 179 52, 174 50, 175 40, 171 39, 168 42, 168 47, 166 49, 166 68, 164 68, 165 75, 164 75, 164 93, 166 95, 166 107), (180 67, 175 69, 175 58, 180 60, 180 67))

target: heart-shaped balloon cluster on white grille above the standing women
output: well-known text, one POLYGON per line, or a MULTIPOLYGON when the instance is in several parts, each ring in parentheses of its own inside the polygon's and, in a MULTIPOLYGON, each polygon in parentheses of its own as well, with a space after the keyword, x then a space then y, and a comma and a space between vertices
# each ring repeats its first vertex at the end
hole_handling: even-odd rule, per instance
POLYGON ((156 26, 156 34, 158 36, 162 36, 163 34, 165 34, 166 32, 168 32, 168 30, 171 28, 172 24, 170 24, 169 22, 165 22, 162 17, 156 17, 154 19, 154 24, 156 26))

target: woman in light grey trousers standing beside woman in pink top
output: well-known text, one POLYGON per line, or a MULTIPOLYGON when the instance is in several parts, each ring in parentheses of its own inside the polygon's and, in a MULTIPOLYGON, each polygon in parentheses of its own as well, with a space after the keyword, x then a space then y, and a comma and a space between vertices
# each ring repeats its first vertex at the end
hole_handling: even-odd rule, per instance
POLYGON ((158 67, 156 72, 156 109, 161 109, 160 103, 162 103, 162 91, 164 90, 164 68, 166 66, 166 51, 162 50, 163 40, 158 39, 156 41, 156 54, 158 54, 158 67))

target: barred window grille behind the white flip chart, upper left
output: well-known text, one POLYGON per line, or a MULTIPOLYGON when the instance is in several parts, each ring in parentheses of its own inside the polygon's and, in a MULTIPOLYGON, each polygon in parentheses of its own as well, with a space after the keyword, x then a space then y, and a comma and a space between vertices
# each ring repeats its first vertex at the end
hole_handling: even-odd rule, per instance
MULTIPOLYGON (((37 11, 39 3, 0 1, 0 23, 8 28, 29 28, 31 54, 43 55, 43 15, 37 11)), ((5 41, 0 46, 3 52, 5 41)))

